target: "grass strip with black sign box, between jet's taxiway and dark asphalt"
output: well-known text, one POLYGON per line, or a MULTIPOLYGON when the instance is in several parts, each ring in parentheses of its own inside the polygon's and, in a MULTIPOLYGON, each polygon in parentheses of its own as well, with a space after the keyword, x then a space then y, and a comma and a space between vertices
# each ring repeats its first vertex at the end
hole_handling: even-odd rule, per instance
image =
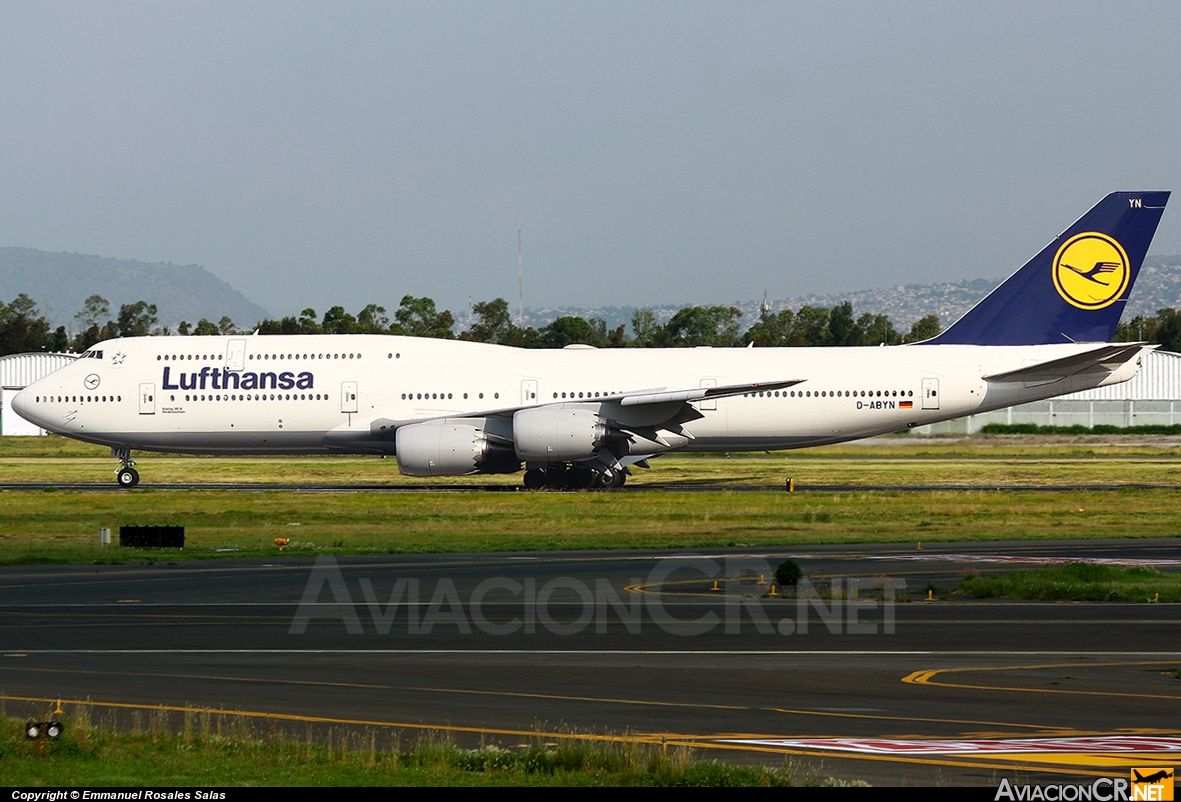
POLYGON ((215 556, 1172 537, 1173 490, 1078 493, 4 493, 0 565, 215 556), (182 524, 185 548, 99 548, 182 524), (291 545, 280 552, 276 537, 291 545), (218 549, 235 549, 218 552, 218 549))

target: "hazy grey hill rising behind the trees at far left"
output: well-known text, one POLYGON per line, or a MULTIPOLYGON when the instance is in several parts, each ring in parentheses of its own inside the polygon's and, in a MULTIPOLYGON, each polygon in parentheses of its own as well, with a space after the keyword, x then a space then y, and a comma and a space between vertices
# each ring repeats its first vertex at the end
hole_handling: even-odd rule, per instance
POLYGON ((217 322, 222 315, 247 328, 270 317, 200 265, 0 248, 0 300, 11 302, 20 293, 37 301, 53 325, 66 328, 83 301, 96 294, 111 302, 112 318, 122 304, 155 304, 161 324, 172 328, 182 320, 217 322))

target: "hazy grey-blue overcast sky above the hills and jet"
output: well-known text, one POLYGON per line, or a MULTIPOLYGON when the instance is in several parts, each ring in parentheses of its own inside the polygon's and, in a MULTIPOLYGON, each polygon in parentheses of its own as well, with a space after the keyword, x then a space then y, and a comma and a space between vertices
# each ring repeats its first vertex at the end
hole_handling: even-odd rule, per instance
POLYGON ((527 306, 1001 276, 1181 189, 1179 40, 1176 2, 4 0, 0 246, 276 314, 515 305, 518 226, 527 306))

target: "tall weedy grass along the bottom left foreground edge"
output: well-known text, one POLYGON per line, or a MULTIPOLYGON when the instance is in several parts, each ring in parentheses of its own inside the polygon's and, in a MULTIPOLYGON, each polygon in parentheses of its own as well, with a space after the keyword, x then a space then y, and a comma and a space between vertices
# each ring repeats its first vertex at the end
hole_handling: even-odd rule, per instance
MULTIPOLYGON (((627 737, 536 736, 509 748, 462 749, 426 736, 403 750, 379 746, 376 731, 332 729, 306 737, 263 731, 216 712, 189 711, 180 732, 167 717, 135 732, 66 722, 58 741, 31 742, 24 723, 0 719, 0 777, 7 785, 641 785, 789 787, 837 784, 782 767, 703 761, 687 748, 627 737)), ((389 733, 381 733, 381 738, 389 733)))

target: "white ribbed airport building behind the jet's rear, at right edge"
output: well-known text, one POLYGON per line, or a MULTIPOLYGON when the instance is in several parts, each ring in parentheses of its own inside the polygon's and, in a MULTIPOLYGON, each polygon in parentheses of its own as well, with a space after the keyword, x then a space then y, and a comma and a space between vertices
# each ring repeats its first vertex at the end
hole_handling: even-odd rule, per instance
POLYGON ((1181 353, 1151 351, 1135 378, 996 412, 916 426, 918 435, 965 435, 990 423, 1039 426, 1149 426, 1181 423, 1181 353))

